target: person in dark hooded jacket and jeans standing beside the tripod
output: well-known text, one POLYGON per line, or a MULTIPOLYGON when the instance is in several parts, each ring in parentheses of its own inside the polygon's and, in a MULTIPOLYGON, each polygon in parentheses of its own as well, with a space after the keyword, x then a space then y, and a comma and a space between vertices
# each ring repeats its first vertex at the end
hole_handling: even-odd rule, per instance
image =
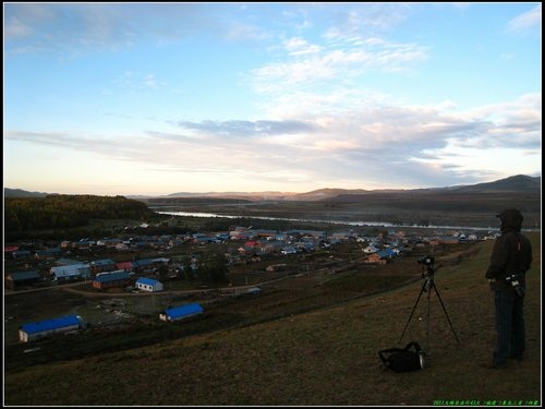
POLYGON ((532 245, 520 232, 523 217, 518 209, 496 217, 501 221, 501 236, 494 243, 486 278, 494 290, 497 341, 488 368, 504 369, 507 359, 523 359, 525 273, 532 264, 532 245))

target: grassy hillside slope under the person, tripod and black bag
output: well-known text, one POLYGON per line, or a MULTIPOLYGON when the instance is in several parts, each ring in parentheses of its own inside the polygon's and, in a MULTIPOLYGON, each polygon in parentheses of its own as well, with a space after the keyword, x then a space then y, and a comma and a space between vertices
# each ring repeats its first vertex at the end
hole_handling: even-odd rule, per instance
POLYGON ((243 328, 166 341, 84 360, 4 373, 4 404, 112 405, 541 405, 541 238, 529 234, 534 266, 528 276, 526 360, 507 371, 483 368, 495 344, 493 298, 484 272, 493 242, 456 266, 437 270, 443 308, 422 284, 311 313, 243 328), (422 320, 421 320, 422 318, 422 320), (424 371, 380 368, 377 350, 423 345, 424 371))

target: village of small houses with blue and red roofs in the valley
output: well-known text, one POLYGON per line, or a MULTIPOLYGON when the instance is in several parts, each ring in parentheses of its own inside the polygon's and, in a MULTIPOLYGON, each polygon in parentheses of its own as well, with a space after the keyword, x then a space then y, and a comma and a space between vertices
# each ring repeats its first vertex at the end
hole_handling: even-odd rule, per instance
MULTIPOLYGON (((233 227, 221 232, 16 243, 4 248, 4 286, 7 291, 19 292, 82 284, 78 288, 89 294, 118 297, 218 288, 231 294, 258 293, 259 282, 302 272, 380 266, 415 251, 425 254, 440 246, 493 238, 462 231, 377 230, 370 234, 362 229, 327 233, 233 227), (222 274, 205 275, 207 268, 222 274)), ((203 312, 202 303, 187 300, 161 309, 157 317, 177 322, 203 312)), ((24 323, 19 340, 27 342, 85 328, 82 316, 55 316, 24 323)))

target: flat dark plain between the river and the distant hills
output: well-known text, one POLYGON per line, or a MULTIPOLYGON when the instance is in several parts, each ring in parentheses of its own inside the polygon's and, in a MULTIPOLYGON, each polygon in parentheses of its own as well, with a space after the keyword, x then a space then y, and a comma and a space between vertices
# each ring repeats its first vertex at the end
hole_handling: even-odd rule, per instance
MULTIPOLYGON (((291 219, 389 221, 400 226, 497 226, 495 215, 516 207, 524 214, 526 228, 541 227, 541 191, 528 192, 374 192, 344 194, 320 201, 276 201, 215 203, 210 199, 172 200, 178 208, 169 212, 205 212, 239 217, 277 217, 291 219), (423 224, 424 222, 424 224, 423 224)), ((154 205, 149 200, 148 205, 154 205)), ((278 225, 278 220, 276 221, 278 225)))

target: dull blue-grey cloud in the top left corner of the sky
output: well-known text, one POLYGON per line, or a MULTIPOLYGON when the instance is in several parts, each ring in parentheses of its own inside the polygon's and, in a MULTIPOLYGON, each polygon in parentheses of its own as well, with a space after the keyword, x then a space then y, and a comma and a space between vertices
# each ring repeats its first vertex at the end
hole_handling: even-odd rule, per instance
POLYGON ((82 55, 225 29, 206 24, 209 19, 197 3, 12 3, 5 7, 5 49, 82 55))

